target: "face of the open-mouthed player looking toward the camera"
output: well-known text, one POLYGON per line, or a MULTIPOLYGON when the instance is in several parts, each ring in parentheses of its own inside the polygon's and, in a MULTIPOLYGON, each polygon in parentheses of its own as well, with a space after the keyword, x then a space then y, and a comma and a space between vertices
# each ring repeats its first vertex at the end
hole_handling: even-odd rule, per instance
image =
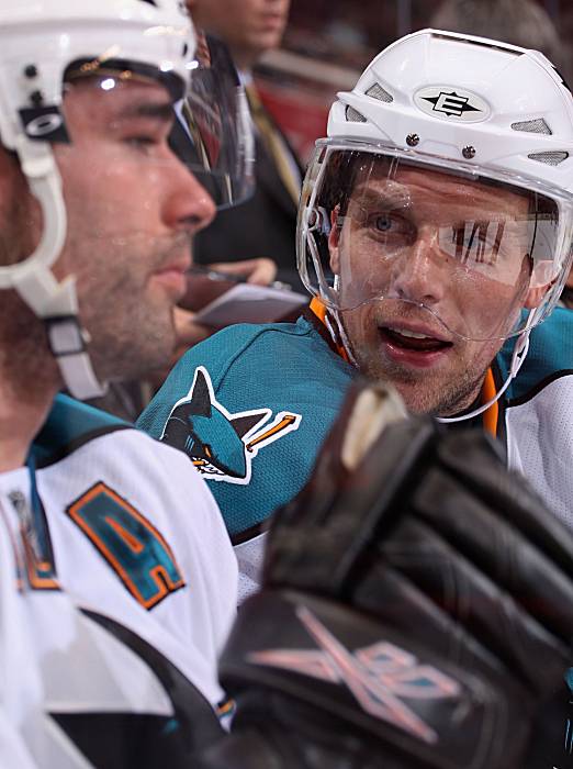
POLYGON ((492 337, 527 304, 527 205, 508 190, 407 167, 355 188, 330 238, 342 305, 353 308, 344 326, 359 367, 392 381, 413 412, 451 415, 479 395, 502 345, 492 337), (490 223, 503 239, 492 238, 470 268, 450 254, 458 222, 490 223), (383 299, 348 298, 364 287, 383 299), (470 341, 480 338, 488 341, 470 341))

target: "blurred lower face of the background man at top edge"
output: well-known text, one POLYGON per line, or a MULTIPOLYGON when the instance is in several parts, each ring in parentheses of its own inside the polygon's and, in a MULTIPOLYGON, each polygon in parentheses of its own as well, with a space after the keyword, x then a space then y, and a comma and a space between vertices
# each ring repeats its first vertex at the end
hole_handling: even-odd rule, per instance
POLYGON ((234 52, 258 56, 282 38, 290 0, 188 0, 198 26, 218 34, 234 52))

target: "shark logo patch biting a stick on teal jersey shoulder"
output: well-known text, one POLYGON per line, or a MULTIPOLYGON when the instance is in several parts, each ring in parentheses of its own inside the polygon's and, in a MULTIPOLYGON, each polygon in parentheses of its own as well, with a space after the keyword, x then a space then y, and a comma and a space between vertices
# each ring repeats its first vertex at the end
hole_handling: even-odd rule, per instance
POLYGON ((195 370, 189 393, 177 401, 160 441, 184 452, 205 480, 250 482, 259 449, 299 428, 301 414, 254 409, 231 414, 215 400, 209 372, 195 370))

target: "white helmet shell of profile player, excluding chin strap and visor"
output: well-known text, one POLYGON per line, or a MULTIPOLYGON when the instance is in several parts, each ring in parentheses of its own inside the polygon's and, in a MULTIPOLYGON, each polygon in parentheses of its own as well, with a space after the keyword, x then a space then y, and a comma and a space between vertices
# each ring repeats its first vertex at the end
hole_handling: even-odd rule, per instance
POLYGON ((193 51, 190 20, 176 0, 2 0, 2 144, 16 149, 22 134, 18 111, 30 107, 34 91, 41 91, 47 104, 61 102, 63 76, 75 59, 105 53, 116 59, 173 70, 186 78, 193 51), (32 77, 31 66, 36 70, 32 77))

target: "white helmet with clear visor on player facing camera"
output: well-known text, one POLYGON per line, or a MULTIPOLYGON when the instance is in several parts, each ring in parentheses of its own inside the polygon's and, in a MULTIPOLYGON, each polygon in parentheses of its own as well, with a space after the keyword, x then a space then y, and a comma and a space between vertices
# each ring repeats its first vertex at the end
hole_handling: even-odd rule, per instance
POLYGON ((416 32, 338 93, 327 133, 303 185, 296 237, 302 280, 327 308, 409 301, 468 339, 504 339, 551 312, 571 263, 573 98, 542 54, 416 32), (427 205, 446 182, 459 204, 427 205), (333 232, 348 220, 333 261, 333 232), (428 224, 449 285, 503 286, 497 316, 484 307, 479 324, 452 322, 420 298, 396 298, 383 265, 407 256, 428 224), (360 271, 352 264, 359 243, 369 271, 366 259, 360 271))

